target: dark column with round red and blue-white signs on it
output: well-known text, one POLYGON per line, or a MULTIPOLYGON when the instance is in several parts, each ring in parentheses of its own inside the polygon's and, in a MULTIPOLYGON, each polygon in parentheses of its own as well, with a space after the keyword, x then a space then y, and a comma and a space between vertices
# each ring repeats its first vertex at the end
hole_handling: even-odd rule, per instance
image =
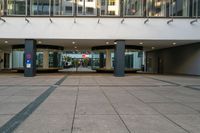
POLYGON ((24 76, 33 77, 36 74, 36 41, 32 39, 25 40, 25 66, 24 76))

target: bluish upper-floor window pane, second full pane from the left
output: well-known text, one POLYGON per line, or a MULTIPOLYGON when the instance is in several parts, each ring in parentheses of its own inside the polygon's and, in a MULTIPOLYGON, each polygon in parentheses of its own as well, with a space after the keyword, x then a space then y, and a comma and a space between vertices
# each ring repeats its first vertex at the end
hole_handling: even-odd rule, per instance
POLYGON ((49 0, 31 0, 31 15, 49 15, 49 0))

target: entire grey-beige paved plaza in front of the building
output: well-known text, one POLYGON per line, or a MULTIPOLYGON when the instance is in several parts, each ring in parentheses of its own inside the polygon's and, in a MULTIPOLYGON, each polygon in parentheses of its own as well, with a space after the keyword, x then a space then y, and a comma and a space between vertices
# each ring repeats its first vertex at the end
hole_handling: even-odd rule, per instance
POLYGON ((0 74, 0 133, 199 133, 200 77, 0 74))

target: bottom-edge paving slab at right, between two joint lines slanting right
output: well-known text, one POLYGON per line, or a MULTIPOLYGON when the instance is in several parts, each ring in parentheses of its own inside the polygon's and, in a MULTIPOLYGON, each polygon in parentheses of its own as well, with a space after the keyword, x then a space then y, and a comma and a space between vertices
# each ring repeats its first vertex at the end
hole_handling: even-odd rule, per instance
POLYGON ((121 115, 132 133, 187 133, 160 115, 121 115))

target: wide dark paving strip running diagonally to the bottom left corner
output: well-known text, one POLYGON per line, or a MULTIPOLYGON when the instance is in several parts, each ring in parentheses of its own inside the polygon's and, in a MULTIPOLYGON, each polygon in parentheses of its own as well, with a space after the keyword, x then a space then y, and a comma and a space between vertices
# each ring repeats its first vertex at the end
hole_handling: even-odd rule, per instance
POLYGON ((38 96, 33 102, 27 105, 19 113, 13 116, 8 122, 6 122, 1 128, 0 133, 11 133, 13 132, 24 120, 26 120, 39 106, 42 104, 47 97, 67 78, 64 76, 57 81, 54 86, 50 86, 45 92, 38 96))

